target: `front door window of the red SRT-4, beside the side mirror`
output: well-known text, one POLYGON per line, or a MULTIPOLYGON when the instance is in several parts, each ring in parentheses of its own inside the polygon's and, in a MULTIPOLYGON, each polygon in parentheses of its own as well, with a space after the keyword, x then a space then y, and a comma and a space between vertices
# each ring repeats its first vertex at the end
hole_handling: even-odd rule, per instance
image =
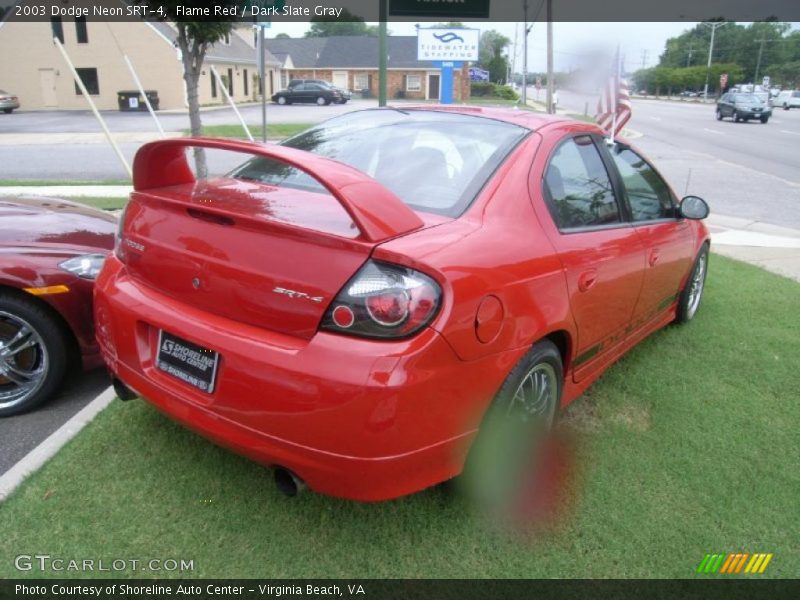
POLYGON ((652 221, 675 216, 672 194, 661 176, 630 148, 616 145, 611 150, 622 177, 634 221, 652 221))

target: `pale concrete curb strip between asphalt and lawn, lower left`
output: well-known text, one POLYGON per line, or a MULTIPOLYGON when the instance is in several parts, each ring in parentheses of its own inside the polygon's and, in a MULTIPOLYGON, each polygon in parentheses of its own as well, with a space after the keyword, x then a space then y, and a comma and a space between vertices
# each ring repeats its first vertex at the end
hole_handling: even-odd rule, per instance
POLYGON ((0 503, 35 473, 117 397, 109 387, 0 477, 0 503))

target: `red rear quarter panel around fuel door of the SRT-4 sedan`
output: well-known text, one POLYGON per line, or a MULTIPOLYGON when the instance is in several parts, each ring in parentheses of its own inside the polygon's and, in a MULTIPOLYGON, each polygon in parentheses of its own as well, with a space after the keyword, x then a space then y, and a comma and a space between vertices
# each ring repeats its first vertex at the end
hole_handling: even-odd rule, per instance
POLYGON ((443 306, 433 327, 461 360, 507 353, 498 386, 534 342, 552 331, 574 331, 561 264, 528 194, 540 141, 531 134, 522 142, 462 217, 375 251, 376 258, 410 264, 439 281, 443 306), (476 319, 489 296, 499 300, 501 322, 493 337, 481 340, 476 319))

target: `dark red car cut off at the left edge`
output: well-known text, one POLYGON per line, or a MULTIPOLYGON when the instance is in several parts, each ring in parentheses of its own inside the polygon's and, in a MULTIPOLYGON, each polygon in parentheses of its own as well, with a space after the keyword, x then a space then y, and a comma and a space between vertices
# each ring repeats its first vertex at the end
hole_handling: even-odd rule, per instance
POLYGON ((117 219, 54 198, 0 198, 0 417, 46 400, 70 366, 103 361, 92 288, 117 219))

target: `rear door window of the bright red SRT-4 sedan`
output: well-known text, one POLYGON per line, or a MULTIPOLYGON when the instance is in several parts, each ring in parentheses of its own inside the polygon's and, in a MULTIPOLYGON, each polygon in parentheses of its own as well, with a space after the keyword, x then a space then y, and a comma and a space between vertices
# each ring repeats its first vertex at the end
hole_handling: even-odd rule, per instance
POLYGON ((621 221, 611 180, 589 136, 568 139, 556 149, 544 183, 550 213, 559 229, 621 221))

